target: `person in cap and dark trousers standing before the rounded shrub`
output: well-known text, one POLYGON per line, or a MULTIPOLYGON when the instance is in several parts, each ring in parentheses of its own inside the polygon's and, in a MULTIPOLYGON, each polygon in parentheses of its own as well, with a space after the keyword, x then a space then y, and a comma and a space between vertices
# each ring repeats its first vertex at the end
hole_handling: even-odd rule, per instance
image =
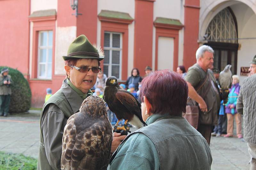
POLYGON ((3 68, 0 73, 0 116, 7 116, 11 99, 12 78, 8 75, 8 68, 3 68))

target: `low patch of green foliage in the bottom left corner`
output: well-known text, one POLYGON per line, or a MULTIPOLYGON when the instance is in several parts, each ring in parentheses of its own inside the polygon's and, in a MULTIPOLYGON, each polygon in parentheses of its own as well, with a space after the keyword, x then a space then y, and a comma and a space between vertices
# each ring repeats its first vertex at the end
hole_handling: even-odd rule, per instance
POLYGON ((36 170, 37 159, 22 154, 0 152, 1 170, 36 170))

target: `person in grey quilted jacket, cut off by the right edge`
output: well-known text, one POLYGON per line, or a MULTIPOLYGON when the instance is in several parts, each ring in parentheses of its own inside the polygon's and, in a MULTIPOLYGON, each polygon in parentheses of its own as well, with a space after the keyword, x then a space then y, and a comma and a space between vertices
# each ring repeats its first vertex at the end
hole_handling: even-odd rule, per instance
POLYGON ((244 114, 244 140, 247 142, 251 157, 250 170, 256 169, 256 55, 253 57, 250 69, 251 76, 247 77, 236 102, 236 110, 244 114))

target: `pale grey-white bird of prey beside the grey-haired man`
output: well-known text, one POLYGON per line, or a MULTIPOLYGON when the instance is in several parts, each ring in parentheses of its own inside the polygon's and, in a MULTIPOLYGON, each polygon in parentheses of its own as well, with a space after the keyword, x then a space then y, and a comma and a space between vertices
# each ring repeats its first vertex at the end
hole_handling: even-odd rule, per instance
POLYGON ((220 82, 220 92, 224 103, 227 103, 229 88, 232 85, 232 73, 231 73, 231 65, 227 65, 223 71, 220 72, 219 82, 220 82))

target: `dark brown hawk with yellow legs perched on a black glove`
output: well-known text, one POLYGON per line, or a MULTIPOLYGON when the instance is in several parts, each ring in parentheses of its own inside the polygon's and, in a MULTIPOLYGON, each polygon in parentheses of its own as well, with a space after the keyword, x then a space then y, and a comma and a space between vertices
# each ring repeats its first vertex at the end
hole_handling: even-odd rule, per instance
MULTIPOLYGON (((129 131, 127 123, 130 122, 137 128, 147 125, 141 116, 141 104, 138 100, 128 91, 121 89, 115 76, 110 76, 107 81, 103 92, 103 98, 108 104, 108 108, 115 113, 117 122, 114 126, 114 131, 121 130, 129 131), (123 127, 117 127, 121 119, 125 120, 123 127)), ((130 131, 129 131, 130 132, 130 131)), ((127 134, 124 133, 124 134, 127 134)))

